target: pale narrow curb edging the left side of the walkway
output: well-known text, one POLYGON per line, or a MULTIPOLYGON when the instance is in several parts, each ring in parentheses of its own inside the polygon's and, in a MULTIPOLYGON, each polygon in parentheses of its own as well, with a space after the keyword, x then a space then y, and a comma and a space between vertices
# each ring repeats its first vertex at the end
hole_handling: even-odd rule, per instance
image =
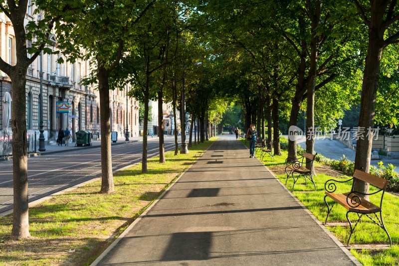
MULTIPOLYGON (((216 139, 214 142, 216 142, 216 141, 217 141, 217 139, 216 139)), ((176 178, 176 180, 175 180, 167 189, 165 189, 164 192, 163 192, 153 203, 151 203, 151 205, 148 206, 148 208, 147 208, 142 214, 140 214, 140 216, 137 217, 137 218, 133 221, 133 223, 131 223, 131 224, 125 229, 125 231, 123 231, 122 234, 120 234, 120 235, 118 236, 118 238, 116 238, 116 239, 111 243, 111 245, 109 245, 108 248, 106 248, 106 249, 100 254, 100 256, 97 257, 97 259, 96 259, 94 262, 92 262, 92 263, 90 264, 90 266, 97 266, 97 264, 98 264, 99 262, 101 262, 102 259, 104 259, 104 257, 107 256, 107 254, 108 254, 116 245, 118 245, 119 241, 121 241, 121 240, 132 230, 132 228, 133 228, 139 221, 141 221, 141 220, 143 219, 143 216, 145 216, 145 215, 152 209, 152 207, 154 207, 155 204, 157 204, 157 202, 160 201, 160 200, 164 197, 164 195, 166 194, 166 192, 169 191, 169 190, 180 180, 180 178, 181 178, 181 177, 182 177, 182 176, 183 176, 183 175, 184 175, 184 174, 185 174, 185 173, 199 160, 199 159, 200 159, 200 157, 202 157, 202 155, 203 155, 206 151, 208 151, 208 149, 213 145, 214 142, 212 142, 212 144, 211 144, 204 152, 202 152, 202 154, 197 158, 197 160, 196 160, 195 162, 193 162, 189 167, 187 167, 187 168, 183 171, 183 173, 181 173, 181 174, 179 175, 179 177, 176 178)), ((111 237, 112 237, 112 236, 111 236, 111 237)))

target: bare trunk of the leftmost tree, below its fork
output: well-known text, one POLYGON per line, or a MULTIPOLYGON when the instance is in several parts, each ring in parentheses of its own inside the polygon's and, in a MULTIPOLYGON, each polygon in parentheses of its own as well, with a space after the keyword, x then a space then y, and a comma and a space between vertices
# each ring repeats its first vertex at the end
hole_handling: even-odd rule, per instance
POLYGON ((11 239, 30 237, 28 209, 28 168, 26 152, 26 94, 25 75, 27 68, 14 66, 12 80, 12 176, 13 176, 13 214, 11 239))

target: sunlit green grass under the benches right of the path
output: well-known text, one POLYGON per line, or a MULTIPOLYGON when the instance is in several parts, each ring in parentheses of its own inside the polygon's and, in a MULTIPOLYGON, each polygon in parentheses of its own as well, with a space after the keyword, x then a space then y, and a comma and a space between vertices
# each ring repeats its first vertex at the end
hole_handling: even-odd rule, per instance
MULTIPOLYGON (((248 144, 248 143, 247 143, 248 144)), ((285 159, 288 152, 282 150, 281 156, 275 156, 275 161, 267 154, 263 158, 263 163, 273 171, 283 184, 286 181, 286 174, 284 172, 285 159)), ((256 156, 260 158, 260 153, 256 156)), ((327 215, 327 207, 324 202, 324 184, 329 179, 347 180, 351 177, 341 175, 334 170, 321 167, 315 162, 317 176, 314 177, 316 183, 316 191, 314 191, 313 184, 308 181, 307 186, 304 184, 304 179, 300 179, 295 184, 294 195, 308 208, 321 222, 325 222, 327 215)), ((288 179, 287 187, 292 188, 292 178, 288 179)), ((350 191, 351 185, 339 184, 339 189, 336 192, 350 191)), ((373 188, 371 188, 371 191, 373 188)), ((378 193, 381 195, 381 193, 378 193)), ((371 196, 373 202, 376 196, 371 196)), ((330 201, 332 202, 332 200, 330 201)), ((376 202, 376 201, 374 201, 376 202)), ((377 201, 379 204, 379 201, 377 201)), ((352 254, 363 265, 399 265, 399 197, 390 193, 385 193, 383 202, 383 219, 385 226, 392 238, 393 246, 385 250, 354 250, 352 254)), ((330 213, 328 223, 347 223, 346 209, 339 204, 336 204, 330 213)), ((357 215, 352 213, 349 218, 351 221, 357 220, 357 215)), ((352 234, 350 245, 373 245, 373 244, 389 244, 387 234, 379 226, 370 221, 369 218, 363 216, 362 223, 359 223, 356 230, 352 234)), ((327 226, 327 228, 346 245, 350 228, 348 226, 327 226)))

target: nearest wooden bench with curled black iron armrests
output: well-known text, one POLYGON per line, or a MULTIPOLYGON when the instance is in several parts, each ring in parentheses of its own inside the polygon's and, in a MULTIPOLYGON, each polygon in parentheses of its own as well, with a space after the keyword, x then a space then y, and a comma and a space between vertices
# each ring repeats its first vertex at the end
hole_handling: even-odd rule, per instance
POLYGON ((375 224, 377 224, 379 227, 381 227, 387 233, 388 238, 392 245, 391 236, 388 233, 387 228, 385 228, 383 215, 382 215, 383 198, 384 198, 385 189, 387 188, 388 183, 389 183, 389 181, 387 179, 363 172, 358 169, 355 170, 355 173, 353 174, 353 178, 351 178, 351 179, 348 179, 345 181, 339 181, 339 180, 335 180, 335 179, 328 180, 324 184, 324 188, 326 190, 325 191, 326 195, 324 196, 324 202, 326 203, 327 210, 328 210, 325 224, 327 224, 327 219, 328 219, 328 216, 330 215, 331 209, 334 207, 335 203, 339 203, 340 205, 342 205, 343 207, 345 207, 348 210, 346 213, 346 219, 348 220, 349 226, 351 227, 351 234, 349 235, 347 246, 349 246, 349 242, 351 241, 352 234, 353 234, 356 226, 358 225, 359 221, 361 221, 363 215, 366 215, 367 217, 369 217, 375 224), (337 189, 337 185, 335 182, 346 183, 351 180, 353 180, 351 191, 346 192, 346 193, 334 193, 335 190, 337 189), (368 193, 368 194, 354 191, 354 185, 357 180, 362 180, 362 181, 369 183, 379 189, 376 192, 368 193), (372 203, 364 198, 364 196, 374 195, 379 192, 381 192, 380 205, 375 205, 374 203, 372 203), (327 197, 334 200, 331 207, 327 203, 327 200, 326 200, 327 197), (352 227, 352 223, 348 217, 348 214, 351 212, 356 213, 359 218, 356 221, 356 224, 354 227, 352 227), (377 216, 377 213, 380 213, 380 218, 377 216), (370 216, 369 214, 374 214, 376 219, 373 219, 373 217, 370 216))

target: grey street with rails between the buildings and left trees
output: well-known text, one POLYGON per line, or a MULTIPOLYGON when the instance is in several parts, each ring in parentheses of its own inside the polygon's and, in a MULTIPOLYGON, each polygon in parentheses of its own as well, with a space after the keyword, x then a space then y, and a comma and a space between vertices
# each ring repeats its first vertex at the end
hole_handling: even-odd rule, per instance
MULTIPOLYGON (((175 147, 165 138, 165 150, 175 147)), ((159 154, 158 138, 148 140, 148 157, 159 154)), ((112 169, 141 162, 143 142, 112 145, 112 169)), ((28 158, 29 202, 101 176, 100 146, 28 158)), ((0 162, 0 213, 13 208, 12 161, 0 162)))

